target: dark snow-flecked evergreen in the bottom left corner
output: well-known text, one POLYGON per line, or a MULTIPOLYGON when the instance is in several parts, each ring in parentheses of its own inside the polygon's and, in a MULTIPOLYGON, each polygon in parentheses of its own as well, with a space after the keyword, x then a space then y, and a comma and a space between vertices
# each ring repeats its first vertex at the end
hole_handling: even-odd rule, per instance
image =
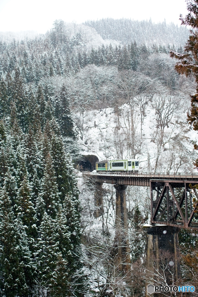
POLYGON ((1 296, 28 296, 34 279, 34 265, 25 228, 15 217, 6 191, 1 192, 0 209, 1 296))

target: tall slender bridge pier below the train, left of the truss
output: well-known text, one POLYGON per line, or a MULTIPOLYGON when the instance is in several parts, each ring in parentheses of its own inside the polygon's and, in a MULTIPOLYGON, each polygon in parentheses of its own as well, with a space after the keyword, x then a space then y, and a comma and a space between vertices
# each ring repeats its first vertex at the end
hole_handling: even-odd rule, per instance
POLYGON ((128 220, 125 191, 127 186, 116 184, 114 187, 116 189, 115 239, 118 247, 118 269, 124 273, 127 273, 130 271, 130 249, 128 240, 128 220))

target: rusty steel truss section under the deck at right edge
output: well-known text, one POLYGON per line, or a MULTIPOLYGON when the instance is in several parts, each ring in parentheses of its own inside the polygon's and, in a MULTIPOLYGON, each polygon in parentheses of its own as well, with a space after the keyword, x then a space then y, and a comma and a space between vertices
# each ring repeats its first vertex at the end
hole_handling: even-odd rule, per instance
POLYGON ((194 180, 150 180, 151 224, 198 230, 198 193, 194 180))

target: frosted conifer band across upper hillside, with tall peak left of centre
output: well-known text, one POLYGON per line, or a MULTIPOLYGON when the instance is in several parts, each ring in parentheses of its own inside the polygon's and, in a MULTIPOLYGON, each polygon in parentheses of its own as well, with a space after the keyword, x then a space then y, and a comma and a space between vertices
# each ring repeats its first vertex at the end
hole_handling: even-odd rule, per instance
POLYGON ((152 53, 169 53, 170 49, 175 47, 138 47, 134 41, 123 47, 110 44, 87 51, 82 34, 77 32, 69 37, 64 23, 60 21, 52 31, 34 40, 13 40, 8 44, 0 42, 0 74, 3 77, 19 67, 25 83, 38 83, 46 77, 74 75, 88 64, 137 70, 138 59, 148 58, 152 53))

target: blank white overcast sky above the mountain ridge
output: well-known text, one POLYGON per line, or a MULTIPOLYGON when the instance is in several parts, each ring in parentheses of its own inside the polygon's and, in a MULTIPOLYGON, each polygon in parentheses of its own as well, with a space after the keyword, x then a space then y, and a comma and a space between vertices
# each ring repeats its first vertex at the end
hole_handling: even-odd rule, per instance
POLYGON ((107 17, 180 24, 186 12, 185 0, 0 0, 0 31, 45 33, 56 19, 82 23, 107 17))

